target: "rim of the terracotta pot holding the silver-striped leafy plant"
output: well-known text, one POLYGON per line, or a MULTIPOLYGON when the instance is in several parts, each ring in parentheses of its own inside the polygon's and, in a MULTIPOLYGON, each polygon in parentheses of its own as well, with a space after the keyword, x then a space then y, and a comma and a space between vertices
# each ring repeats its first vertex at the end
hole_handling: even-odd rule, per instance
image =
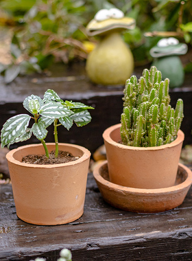
MULTIPOLYGON (((53 142, 47 143, 48 147, 49 147, 49 145, 55 146, 55 143, 53 143, 53 142)), ((16 165, 25 166, 25 167, 28 166, 28 167, 31 167, 31 168, 61 168, 63 166, 70 166, 70 165, 79 164, 82 161, 86 161, 86 159, 91 157, 91 152, 87 148, 84 148, 83 146, 76 145, 76 144, 59 143, 59 146, 68 146, 68 147, 73 147, 73 148, 75 147, 79 150, 82 150, 82 152, 84 152, 84 154, 82 155, 82 157, 80 157, 80 159, 77 159, 75 161, 70 161, 70 162, 67 162, 67 163, 59 163, 59 164, 46 164, 46 165, 24 163, 24 162, 21 162, 21 161, 14 159, 14 153, 17 152, 18 150, 30 148, 30 147, 38 147, 38 146, 43 146, 43 144, 29 144, 29 145, 20 146, 18 148, 10 150, 6 155, 6 159, 8 161, 16 164, 16 165)))

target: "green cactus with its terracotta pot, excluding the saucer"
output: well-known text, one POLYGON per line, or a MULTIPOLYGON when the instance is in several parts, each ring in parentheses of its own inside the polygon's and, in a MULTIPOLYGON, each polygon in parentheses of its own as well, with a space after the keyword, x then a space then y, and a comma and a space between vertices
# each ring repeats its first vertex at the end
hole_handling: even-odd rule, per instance
POLYGON ((156 67, 128 79, 123 100, 121 124, 103 135, 110 181, 147 189, 173 185, 184 139, 182 100, 171 108, 169 79, 162 81, 156 67))

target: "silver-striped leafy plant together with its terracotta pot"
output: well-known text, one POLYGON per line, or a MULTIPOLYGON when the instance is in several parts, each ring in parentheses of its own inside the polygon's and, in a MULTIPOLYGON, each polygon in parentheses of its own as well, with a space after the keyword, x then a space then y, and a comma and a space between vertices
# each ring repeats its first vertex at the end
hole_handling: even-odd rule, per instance
POLYGON ((32 134, 41 144, 21 146, 6 155, 16 214, 36 225, 69 223, 80 218, 84 211, 91 153, 82 146, 59 144, 57 128, 62 125, 69 130, 73 122, 77 126, 88 124, 91 121, 88 109, 93 107, 63 101, 53 90, 47 90, 43 100, 36 95, 25 98, 23 106, 32 117, 21 114, 5 122, 1 130, 1 146, 25 141, 32 134), (34 124, 29 128, 31 119, 34 124), (55 143, 46 144, 47 127, 51 124, 55 143))

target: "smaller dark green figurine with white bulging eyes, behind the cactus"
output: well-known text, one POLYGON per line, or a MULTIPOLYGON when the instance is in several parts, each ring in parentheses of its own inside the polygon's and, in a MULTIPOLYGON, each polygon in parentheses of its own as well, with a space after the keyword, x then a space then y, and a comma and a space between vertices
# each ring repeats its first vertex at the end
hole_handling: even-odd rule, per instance
POLYGON ((174 37, 162 38, 157 45, 150 49, 154 59, 152 65, 162 73, 162 78, 169 78, 169 87, 180 87, 184 82, 184 69, 179 58, 187 53, 187 45, 180 43, 174 37))

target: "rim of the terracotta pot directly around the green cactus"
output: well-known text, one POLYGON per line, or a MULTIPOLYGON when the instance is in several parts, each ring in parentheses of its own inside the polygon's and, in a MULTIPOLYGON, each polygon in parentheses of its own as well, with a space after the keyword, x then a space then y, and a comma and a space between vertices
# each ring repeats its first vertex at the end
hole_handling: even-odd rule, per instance
POLYGON ((105 141, 107 141, 109 144, 122 148, 122 149, 129 149, 129 150, 163 150, 164 148, 171 148, 173 146, 177 146, 178 144, 180 144, 182 141, 184 141, 184 133, 179 130, 178 131, 178 137, 172 141, 169 144, 165 144, 165 145, 161 145, 161 146, 155 146, 155 147, 134 147, 134 146, 128 146, 128 145, 123 145, 123 144, 119 144, 117 141, 114 141, 111 137, 110 134, 112 133, 112 131, 117 130, 117 128, 121 128, 121 123, 120 124, 115 124, 113 126, 110 126, 109 128, 106 128, 106 130, 103 133, 103 138, 105 141))

